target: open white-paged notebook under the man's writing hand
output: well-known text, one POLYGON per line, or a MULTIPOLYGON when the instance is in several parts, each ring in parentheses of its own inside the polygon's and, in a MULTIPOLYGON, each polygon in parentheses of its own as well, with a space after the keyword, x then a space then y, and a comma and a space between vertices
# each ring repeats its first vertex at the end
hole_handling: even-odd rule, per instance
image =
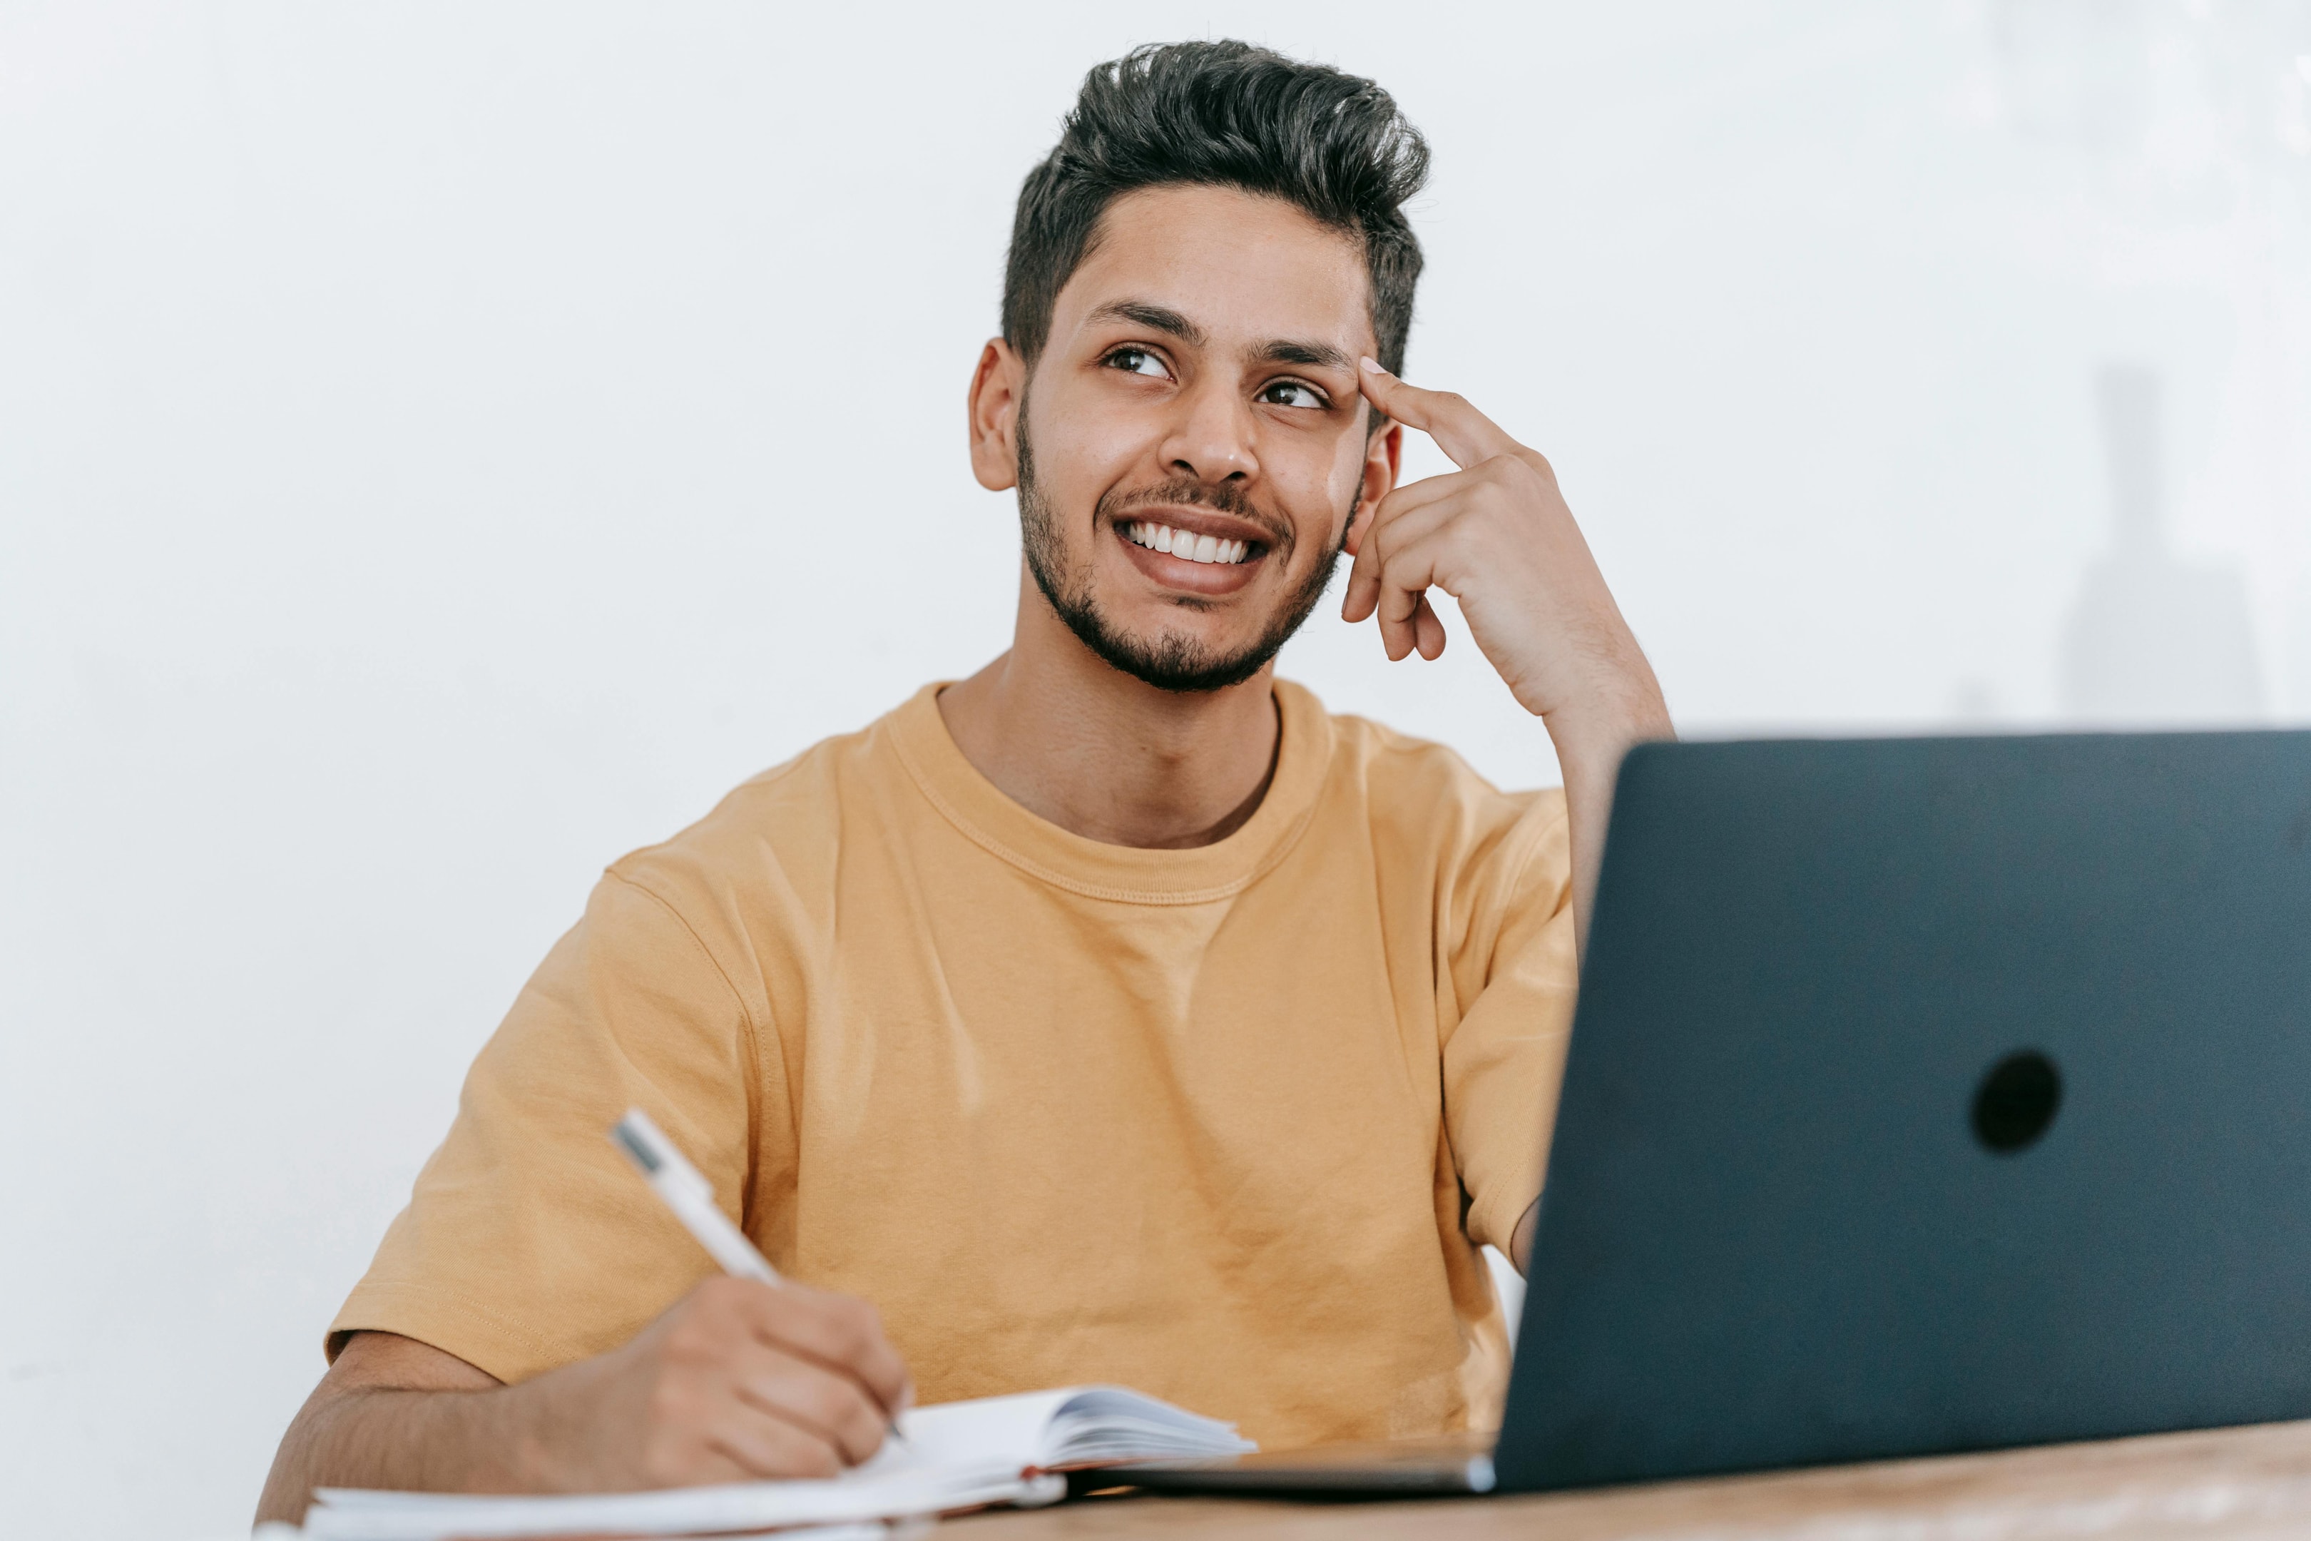
POLYGON ((1232 1423, 1202 1419, 1121 1386, 1026 1391, 901 1414, 906 1444, 832 1481, 730 1483, 666 1492, 467 1497, 321 1488, 305 1511, 314 1541, 444 1541, 446 1536, 682 1536, 834 1525, 982 1504, 1049 1504, 1054 1472, 1116 1460, 1192 1460, 1255 1449, 1232 1423))

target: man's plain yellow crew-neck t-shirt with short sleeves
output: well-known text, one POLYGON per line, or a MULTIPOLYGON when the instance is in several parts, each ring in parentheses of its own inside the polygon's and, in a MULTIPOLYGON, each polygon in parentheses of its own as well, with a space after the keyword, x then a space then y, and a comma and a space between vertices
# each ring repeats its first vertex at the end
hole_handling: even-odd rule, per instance
POLYGON ((924 1402, 1119 1382, 1271 1449, 1498 1419, 1479 1243, 1539 1192, 1574 1000, 1565 799, 1278 684, 1269 795, 1102 846, 980 776, 938 686, 603 876, 474 1060, 330 1328, 518 1382, 712 1261, 642 1107, 924 1402))

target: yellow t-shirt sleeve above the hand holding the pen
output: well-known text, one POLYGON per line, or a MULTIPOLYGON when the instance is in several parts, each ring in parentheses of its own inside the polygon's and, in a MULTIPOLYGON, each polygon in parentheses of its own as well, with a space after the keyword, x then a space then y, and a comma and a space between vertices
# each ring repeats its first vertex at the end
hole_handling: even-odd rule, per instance
POLYGON ((647 1111, 744 1224, 753 1125, 765 1104, 786 1116, 758 1060, 749 1010, 693 926, 605 873, 474 1060, 448 1137, 330 1324, 330 1358, 374 1328, 520 1382, 633 1338, 714 1264, 610 1125, 647 1111))

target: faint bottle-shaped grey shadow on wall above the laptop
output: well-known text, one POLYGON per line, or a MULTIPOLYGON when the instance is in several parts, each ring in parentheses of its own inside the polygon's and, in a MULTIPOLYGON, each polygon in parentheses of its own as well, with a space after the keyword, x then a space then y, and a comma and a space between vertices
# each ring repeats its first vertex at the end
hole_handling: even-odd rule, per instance
POLYGON ((2262 719, 2246 585, 2165 548, 2158 374, 2096 372, 2110 464, 2110 550, 2087 568, 2064 631, 2061 712, 2087 728, 2242 725, 2262 719))

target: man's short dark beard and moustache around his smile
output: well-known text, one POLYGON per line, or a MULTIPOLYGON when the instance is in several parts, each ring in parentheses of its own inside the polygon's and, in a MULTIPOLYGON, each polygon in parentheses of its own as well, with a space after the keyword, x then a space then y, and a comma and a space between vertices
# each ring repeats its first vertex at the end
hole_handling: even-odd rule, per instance
MULTIPOLYGON (((1278 520, 1259 515, 1250 499, 1234 487, 1211 487, 1192 478, 1176 478, 1139 492, 1100 494, 1093 508, 1093 529, 1112 529, 1114 518, 1132 504, 1202 504, 1204 508, 1218 508, 1241 520, 1255 520, 1266 529, 1276 529, 1278 524, 1278 520)), ((1269 628, 1255 642, 1236 652, 1218 652, 1176 631, 1158 631, 1153 638, 1125 633, 1100 610, 1091 580, 1093 564, 1084 561, 1075 571, 1068 571, 1068 545, 1058 529, 1058 515, 1042 497, 1042 487, 1035 485, 1035 455, 1028 448, 1026 404, 1021 402, 1019 536, 1026 548, 1026 571, 1035 575, 1035 587, 1042 589, 1045 601, 1049 601, 1052 610, 1058 612, 1058 619, 1068 624, 1068 631, 1084 647, 1098 654, 1109 668, 1142 684, 1186 695, 1243 684, 1276 658, 1278 649, 1301 628, 1301 621, 1315 612, 1315 601, 1324 598, 1324 589, 1331 587, 1333 566, 1340 561, 1340 552, 1347 550, 1347 520, 1340 522, 1340 541, 1285 596, 1269 619, 1269 628)), ((1283 557, 1285 550, 1290 550, 1285 543, 1269 545, 1273 557, 1283 557)), ((1209 605, 1209 601, 1197 598, 1183 603, 1197 610, 1209 605)))

